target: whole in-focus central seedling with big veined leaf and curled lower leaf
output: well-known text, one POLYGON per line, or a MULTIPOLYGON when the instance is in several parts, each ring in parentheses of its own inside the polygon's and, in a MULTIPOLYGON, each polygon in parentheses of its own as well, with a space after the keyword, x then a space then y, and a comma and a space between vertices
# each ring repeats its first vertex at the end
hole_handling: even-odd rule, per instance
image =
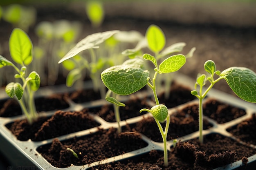
POLYGON ((170 124, 170 116, 168 109, 163 104, 159 104, 156 92, 155 80, 157 74, 171 73, 179 70, 186 62, 184 55, 173 55, 164 60, 161 64, 157 64, 155 57, 150 54, 144 54, 145 60, 151 61, 155 65, 155 74, 153 79, 149 77, 149 71, 144 68, 144 61, 140 58, 126 60, 123 64, 112 66, 101 73, 101 79, 105 86, 112 92, 119 95, 129 95, 135 93, 146 84, 152 89, 156 105, 149 109, 141 109, 150 112, 160 130, 164 141, 164 164, 168 166, 167 155, 167 132, 170 124), (166 120, 166 127, 163 130, 160 122, 166 120))

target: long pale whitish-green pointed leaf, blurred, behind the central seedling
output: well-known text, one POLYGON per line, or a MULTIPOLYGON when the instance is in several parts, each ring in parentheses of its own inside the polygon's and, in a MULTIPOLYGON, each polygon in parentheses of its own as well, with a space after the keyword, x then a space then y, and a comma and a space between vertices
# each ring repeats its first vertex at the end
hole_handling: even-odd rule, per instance
POLYGON ((113 31, 106 31, 103 33, 94 33, 91 35, 88 35, 83 40, 78 42, 76 46, 74 46, 67 54, 58 62, 59 64, 71 57, 74 57, 76 54, 80 53, 81 51, 92 49, 97 47, 97 45, 101 44, 108 38, 110 38, 115 33, 118 33, 118 30, 113 31))

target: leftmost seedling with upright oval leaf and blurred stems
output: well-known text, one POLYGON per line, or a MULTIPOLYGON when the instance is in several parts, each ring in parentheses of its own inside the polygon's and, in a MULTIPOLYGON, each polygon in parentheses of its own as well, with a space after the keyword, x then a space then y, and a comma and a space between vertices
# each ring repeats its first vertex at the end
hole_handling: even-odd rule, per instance
POLYGON ((1 55, 0 68, 12 66, 18 72, 14 77, 21 79, 22 84, 20 82, 11 82, 7 84, 5 91, 11 98, 16 96, 22 112, 27 117, 27 121, 32 124, 38 118, 34 103, 34 93, 40 86, 40 77, 35 71, 32 71, 27 76, 27 65, 33 60, 33 45, 29 36, 21 29, 13 29, 9 39, 9 51, 13 61, 21 66, 20 69, 1 55))

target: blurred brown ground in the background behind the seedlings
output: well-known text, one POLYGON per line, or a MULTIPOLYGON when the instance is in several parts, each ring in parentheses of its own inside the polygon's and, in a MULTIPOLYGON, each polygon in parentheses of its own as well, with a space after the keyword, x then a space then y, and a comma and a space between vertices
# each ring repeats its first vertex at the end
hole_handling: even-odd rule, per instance
MULTIPOLYGON (((80 1, 58 3, 29 3, 36 8, 37 20, 76 20, 83 23, 80 39, 91 33, 108 30, 137 30, 145 35, 150 24, 158 25, 166 35, 166 46, 185 42, 182 54, 196 47, 193 58, 187 59, 179 71, 196 79, 204 72, 204 62, 213 60, 223 71, 231 66, 243 66, 256 71, 256 2, 254 1, 103 1, 105 19, 101 27, 91 26, 80 1)), ((35 23, 35 25, 36 25, 35 23)), ((0 21, 2 55, 9 55, 8 40, 13 27, 0 21)), ((28 35, 36 40, 34 28, 28 35)), ((78 42, 78 41, 77 41, 78 42)), ((233 94, 222 80, 214 86, 233 94)))

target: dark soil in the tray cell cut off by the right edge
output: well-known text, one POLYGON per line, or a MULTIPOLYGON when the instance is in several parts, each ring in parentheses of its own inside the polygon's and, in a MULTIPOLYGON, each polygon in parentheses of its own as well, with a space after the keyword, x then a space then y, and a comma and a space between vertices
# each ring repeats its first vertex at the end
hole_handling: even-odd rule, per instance
POLYGON ((227 128, 227 131, 241 141, 256 145, 256 115, 253 114, 252 117, 240 124, 227 128))

